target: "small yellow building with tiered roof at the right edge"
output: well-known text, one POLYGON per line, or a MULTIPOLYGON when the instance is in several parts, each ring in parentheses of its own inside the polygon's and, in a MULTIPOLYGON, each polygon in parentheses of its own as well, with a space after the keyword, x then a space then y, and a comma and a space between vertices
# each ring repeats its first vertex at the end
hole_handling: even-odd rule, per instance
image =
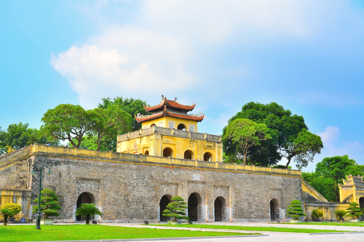
POLYGON ((362 176, 346 175, 343 185, 339 184, 340 201, 356 202, 360 208, 364 208, 364 181, 362 176))

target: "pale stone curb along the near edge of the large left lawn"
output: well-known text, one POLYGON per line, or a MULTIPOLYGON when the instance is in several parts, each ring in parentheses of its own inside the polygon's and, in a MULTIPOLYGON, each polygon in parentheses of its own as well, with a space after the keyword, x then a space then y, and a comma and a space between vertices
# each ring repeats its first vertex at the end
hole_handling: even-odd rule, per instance
POLYGON ((144 238, 144 239, 96 239, 96 240, 55 240, 55 241, 29 241, 29 242, 121 242, 121 241, 153 241, 153 240, 177 240, 177 239, 223 239, 241 237, 262 237, 268 234, 227 235, 227 236, 201 236, 201 237, 170 237, 170 238, 144 238))

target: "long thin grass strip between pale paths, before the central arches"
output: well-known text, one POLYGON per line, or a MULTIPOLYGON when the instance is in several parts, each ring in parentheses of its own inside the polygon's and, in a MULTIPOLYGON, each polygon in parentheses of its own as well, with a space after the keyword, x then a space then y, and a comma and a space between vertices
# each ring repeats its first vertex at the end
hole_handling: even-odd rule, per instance
POLYGON ((253 227, 253 226, 235 226, 235 225, 205 225, 205 224, 151 224, 153 226, 168 226, 168 227, 189 227, 189 228, 204 228, 204 229, 234 229, 234 230, 253 230, 253 231, 275 231, 275 232, 291 232, 291 233, 329 233, 329 232, 351 232, 345 230, 330 230, 330 229, 295 229, 295 228, 279 228, 279 227, 253 227))

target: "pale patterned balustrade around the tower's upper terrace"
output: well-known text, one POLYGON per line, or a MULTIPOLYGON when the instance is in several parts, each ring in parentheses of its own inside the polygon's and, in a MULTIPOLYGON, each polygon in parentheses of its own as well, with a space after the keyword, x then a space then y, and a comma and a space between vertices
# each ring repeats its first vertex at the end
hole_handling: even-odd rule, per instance
POLYGON ((150 134, 163 134, 163 135, 171 135, 179 137, 189 137, 191 139, 201 139, 201 140, 211 140, 211 141, 221 142, 221 135, 210 135, 206 133, 198 133, 186 130, 176 130, 174 128, 163 128, 158 126, 143 128, 134 132, 129 132, 127 134, 118 135, 118 141, 138 138, 150 134))

